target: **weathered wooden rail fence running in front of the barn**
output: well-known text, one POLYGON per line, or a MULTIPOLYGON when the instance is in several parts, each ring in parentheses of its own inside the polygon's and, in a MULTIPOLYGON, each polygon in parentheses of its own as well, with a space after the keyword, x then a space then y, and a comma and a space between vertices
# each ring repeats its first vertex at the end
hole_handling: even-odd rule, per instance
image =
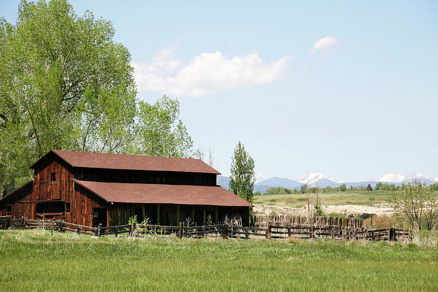
POLYGON ((206 225, 206 226, 184 226, 183 222, 179 226, 164 225, 145 225, 132 223, 129 225, 90 227, 79 224, 68 223, 60 220, 31 220, 31 219, 10 219, 9 217, 0 217, 0 227, 2 228, 45 228, 52 231, 87 234, 91 236, 105 235, 129 235, 133 237, 146 236, 169 236, 178 237, 231 237, 231 238, 275 238, 286 239, 296 237, 301 239, 309 238, 331 238, 331 239, 349 239, 349 240, 412 240, 412 231, 397 228, 384 228, 366 230, 363 227, 321 227, 315 225, 302 226, 283 226, 278 224, 266 225, 262 227, 246 227, 228 224, 206 225))

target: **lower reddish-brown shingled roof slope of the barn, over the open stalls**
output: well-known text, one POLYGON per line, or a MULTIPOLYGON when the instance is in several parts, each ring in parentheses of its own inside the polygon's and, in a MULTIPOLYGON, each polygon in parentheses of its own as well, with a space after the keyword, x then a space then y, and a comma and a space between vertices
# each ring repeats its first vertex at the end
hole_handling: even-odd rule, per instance
POLYGON ((73 181, 108 202, 253 206, 221 186, 73 181))

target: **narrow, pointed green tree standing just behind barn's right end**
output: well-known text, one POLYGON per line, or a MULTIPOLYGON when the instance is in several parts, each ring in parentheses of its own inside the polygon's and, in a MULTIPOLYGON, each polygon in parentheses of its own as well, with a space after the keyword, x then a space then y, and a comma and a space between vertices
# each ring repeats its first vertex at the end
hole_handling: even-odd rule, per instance
POLYGON ((231 158, 230 172, 230 191, 251 203, 254 183, 256 182, 254 160, 240 141, 234 149, 234 156, 231 158))

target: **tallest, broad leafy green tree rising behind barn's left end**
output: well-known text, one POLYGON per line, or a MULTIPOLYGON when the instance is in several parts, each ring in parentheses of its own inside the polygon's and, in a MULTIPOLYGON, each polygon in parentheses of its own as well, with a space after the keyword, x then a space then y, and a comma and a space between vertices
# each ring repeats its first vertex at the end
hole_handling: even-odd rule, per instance
POLYGON ((125 152, 135 115, 130 54, 110 21, 66 0, 22 0, 0 19, 0 185, 50 149, 125 152))

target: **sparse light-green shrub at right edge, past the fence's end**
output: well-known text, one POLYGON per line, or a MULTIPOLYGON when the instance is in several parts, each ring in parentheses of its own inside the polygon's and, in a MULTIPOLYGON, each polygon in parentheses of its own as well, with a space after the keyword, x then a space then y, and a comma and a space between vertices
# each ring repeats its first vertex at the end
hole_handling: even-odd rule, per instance
POLYGON ((402 183, 399 190, 389 195, 388 201, 397 217, 419 230, 423 224, 430 230, 437 223, 438 194, 426 183, 418 180, 402 183))

